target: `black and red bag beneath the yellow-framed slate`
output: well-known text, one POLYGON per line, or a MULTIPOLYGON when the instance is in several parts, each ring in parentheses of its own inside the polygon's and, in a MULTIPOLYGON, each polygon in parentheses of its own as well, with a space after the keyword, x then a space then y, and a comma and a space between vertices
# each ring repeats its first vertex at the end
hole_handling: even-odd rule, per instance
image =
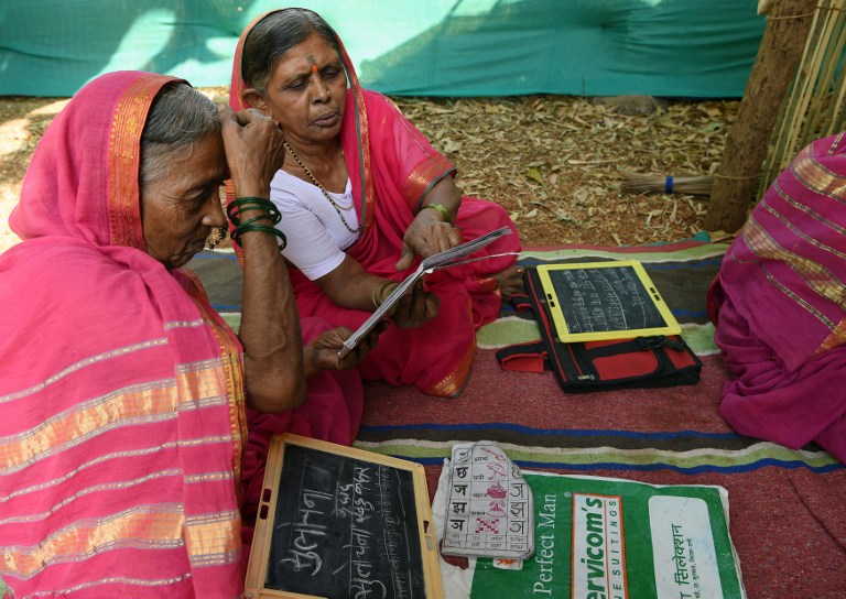
POLYGON ((523 281, 525 294, 514 294, 510 302, 518 312, 532 312, 541 329, 541 340, 497 351, 503 370, 552 370, 567 393, 675 386, 699 381, 702 361, 677 335, 561 342, 538 271, 527 268, 523 281))

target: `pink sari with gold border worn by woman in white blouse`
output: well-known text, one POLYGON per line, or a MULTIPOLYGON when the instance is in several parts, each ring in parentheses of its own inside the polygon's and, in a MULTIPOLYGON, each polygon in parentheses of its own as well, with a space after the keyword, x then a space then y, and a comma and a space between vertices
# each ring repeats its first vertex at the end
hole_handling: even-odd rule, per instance
MULTIPOLYGON (((248 107, 242 96, 243 42, 252 26, 267 14, 257 18, 241 34, 229 99, 235 110, 248 107)), ((364 224, 358 241, 347 253, 368 272, 399 281, 408 273, 398 273, 393 264, 400 258, 402 238, 414 211, 424 194, 441 178, 454 176, 455 168, 390 99, 361 88, 340 40, 338 45, 349 81, 341 146, 359 221, 364 224)), ((464 197, 456 226, 465 240, 503 226, 514 231, 474 257, 520 251, 517 229, 498 204, 464 197)), ((426 288, 441 301, 437 317, 416 329, 389 328, 359 366, 362 377, 414 385, 431 395, 460 393, 475 356, 476 330, 496 319, 500 308, 501 297, 494 275, 516 260, 516 255, 490 258, 429 275, 426 288)), ((369 312, 337 306, 300 271, 292 270, 291 279, 303 316, 317 315, 333 325, 351 329, 370 316, 369 312)))

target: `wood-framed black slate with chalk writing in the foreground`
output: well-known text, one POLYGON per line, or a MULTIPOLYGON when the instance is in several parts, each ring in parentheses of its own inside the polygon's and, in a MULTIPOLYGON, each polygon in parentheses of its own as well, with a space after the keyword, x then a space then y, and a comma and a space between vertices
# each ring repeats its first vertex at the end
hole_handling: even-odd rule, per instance
POLYGON ((276 435, 262 493, 247 597, 442 597, 422 466, 276 435))

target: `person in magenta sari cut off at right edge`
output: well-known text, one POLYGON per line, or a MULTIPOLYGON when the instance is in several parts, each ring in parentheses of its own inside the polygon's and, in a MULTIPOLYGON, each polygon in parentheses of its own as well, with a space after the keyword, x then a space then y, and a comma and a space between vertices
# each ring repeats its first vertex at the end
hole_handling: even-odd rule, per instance
POLYGON ((802 150, 753 208, 708 292, 744 435, 846 464, 846 134, 802 150))

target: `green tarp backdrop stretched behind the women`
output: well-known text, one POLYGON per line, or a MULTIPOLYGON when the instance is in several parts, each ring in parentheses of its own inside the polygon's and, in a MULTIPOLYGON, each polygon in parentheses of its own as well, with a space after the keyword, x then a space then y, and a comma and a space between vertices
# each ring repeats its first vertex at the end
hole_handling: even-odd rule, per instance
MULTIPOLYGON (((2 0, 0 95, 69 96, 101 73, 229 84, 269 0, 2 0)), ((362 84, 406 96, 739 97, 764 20, 753 0, 303 0, 362 84)))

